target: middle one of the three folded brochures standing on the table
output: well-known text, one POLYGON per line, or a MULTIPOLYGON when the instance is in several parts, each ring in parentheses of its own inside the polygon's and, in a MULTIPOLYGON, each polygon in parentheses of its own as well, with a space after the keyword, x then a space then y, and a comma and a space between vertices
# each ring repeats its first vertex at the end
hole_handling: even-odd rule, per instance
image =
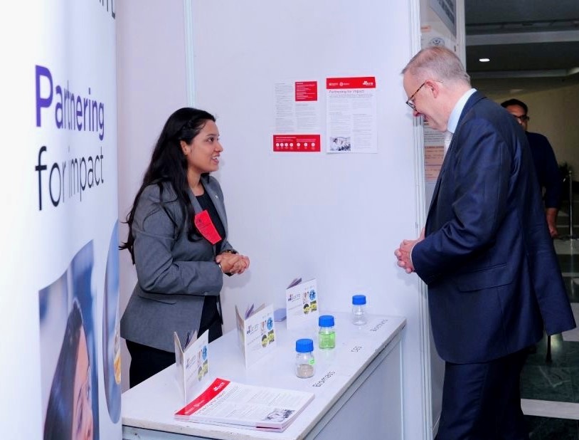
POLYGON ((235 315, 239 343, 247 368, 275 350, 277 346, 273 306, 261 305, 255 311, 252 306, 248 309, 245 318, 242 318, 238 307, 235 306, 235 315))

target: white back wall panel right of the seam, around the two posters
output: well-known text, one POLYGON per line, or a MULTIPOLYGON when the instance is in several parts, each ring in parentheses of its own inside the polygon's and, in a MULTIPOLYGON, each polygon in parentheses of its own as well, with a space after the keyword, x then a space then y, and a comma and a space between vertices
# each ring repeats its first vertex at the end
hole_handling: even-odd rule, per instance
MULTIPOLYGON (((217 116, 225 151, 216 174, 230 241, 247 275, 226 280, 235 304, 284 305, 296 276, 317 278, 323 311, 366 293, 373 313, 408 319, 403 341, 405 438, 423 438, 420 284, 395 266, 417 235, 414 125, 400 70, 413 55, 408 2, 192 1, 195 105, 217 116), (218 17, 218 19, 208 19, 218 17), (274 153, 274 84, 375 75, 378 154, 274 153)), ((417 22, 418 23, 418 22, 417 22)), ((323 120, 325 120, 325 112, 323 120)), ((322 143, 325 142, 322 132, 322 143)), ((427 367, 426 367, 427 368, 427 367)))

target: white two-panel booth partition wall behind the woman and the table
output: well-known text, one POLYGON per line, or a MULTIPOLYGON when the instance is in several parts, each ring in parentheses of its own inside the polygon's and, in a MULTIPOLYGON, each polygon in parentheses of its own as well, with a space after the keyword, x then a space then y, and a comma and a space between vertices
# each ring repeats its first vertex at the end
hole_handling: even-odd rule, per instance
MULTIPOLYGON (((252 262, 225 280, 224 330, 235 326, 235 305, 282 307, 297 276, 317 278, 321 310, 349 310, 351 295, 365 293, 371 313, 407 318, 404 438, 430 438, 425 294, 393 256, 402 239, 418 235, 424 215, 421 132, 400 75, 420 48, 418 0, 145 1, 118 9, 140 25, 119 26, 120 216, 169 113, 187 101, 213 112, 225 148, 216 177, 230 241, 252 262), (142 46, 147 58, 135 56, 142 46), (157 56, 157 68, 136 67, 157 56), (325 80, 354 76, 376 78, 377 151, 326 154, 325 80), (273 151, 275 84, 287 81, 318 83, 321 152, 273 151), (143 83, 149 88, 139 94, 143 83)), ((121 258, 126 303, 135 278, 128 255, 121 258)))

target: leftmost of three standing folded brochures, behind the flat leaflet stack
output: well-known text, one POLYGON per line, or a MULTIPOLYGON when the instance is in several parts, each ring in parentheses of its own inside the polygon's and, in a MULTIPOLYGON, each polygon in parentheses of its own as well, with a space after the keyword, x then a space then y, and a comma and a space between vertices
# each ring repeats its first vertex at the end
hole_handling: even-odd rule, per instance
POLYGON ((193 332, 192 337, 189 335, 190 333, 187 335, 185 344, 181 345, 177 333, 173 334, 176 377, 184 402, 189 402, 191 397, 198 392, 197 385, 209 372, 208 330, 199 338, 197 338, 197 331, 193 332))

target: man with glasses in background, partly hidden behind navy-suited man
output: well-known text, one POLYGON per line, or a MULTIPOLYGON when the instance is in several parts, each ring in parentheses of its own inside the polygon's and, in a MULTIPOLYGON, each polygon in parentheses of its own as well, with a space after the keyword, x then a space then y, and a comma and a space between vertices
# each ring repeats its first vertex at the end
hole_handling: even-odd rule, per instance
POLYGON ((557 213, 561 207, 561 173, 553 147, 547 138, 538 133, 528 132, 527 125, 530 119, 527 115, 527 105, 518 99, 506 100, 501 105, 506 111, 514 116, 517 122, 525 130, 528 145, 531 147, 533 162, 535 162, 535 171, 537 172, 538 184, 544 189, 543 201, 545 203, 545 212, 549 233, 554 239, 558 236, 557 232, 557 213))

